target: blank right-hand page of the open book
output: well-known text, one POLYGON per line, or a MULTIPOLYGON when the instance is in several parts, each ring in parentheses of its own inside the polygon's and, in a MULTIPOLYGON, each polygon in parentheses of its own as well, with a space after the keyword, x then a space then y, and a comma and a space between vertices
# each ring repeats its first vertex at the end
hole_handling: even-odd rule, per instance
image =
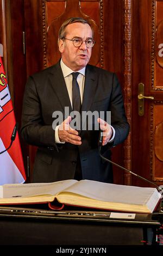
POLYGON ((156 188, 116 185, 93 180, 81 180, 65 190, 105 202, 139 205, 145 205, 154 191, 156 188))

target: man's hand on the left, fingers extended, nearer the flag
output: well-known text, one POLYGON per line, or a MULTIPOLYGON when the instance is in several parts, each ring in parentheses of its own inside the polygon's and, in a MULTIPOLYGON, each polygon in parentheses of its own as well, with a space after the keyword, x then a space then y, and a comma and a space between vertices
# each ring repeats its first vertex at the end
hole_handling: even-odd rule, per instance
POLYGON ((71 117, 67 117, 59 126, 58 136, 61 142, 69 142, 74 145, 81 145, 81 137, 78 132, 70 126, 71 117))

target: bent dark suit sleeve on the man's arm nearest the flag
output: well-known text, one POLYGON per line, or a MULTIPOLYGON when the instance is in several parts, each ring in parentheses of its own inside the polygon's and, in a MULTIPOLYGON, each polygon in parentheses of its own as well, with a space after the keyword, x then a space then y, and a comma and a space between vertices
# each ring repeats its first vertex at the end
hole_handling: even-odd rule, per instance
POLYGON ((28 144, 58 149, 52 124, 43 124, 41 103, 33 77, 28 78, 24 92, 21 136, 28 144))

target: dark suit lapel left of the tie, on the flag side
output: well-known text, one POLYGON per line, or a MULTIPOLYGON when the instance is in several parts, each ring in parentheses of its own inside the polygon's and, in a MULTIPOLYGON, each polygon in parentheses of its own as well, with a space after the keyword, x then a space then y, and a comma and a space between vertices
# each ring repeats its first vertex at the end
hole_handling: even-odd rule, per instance
POLYGON ((60 67, 60 61, 56 65, 54 65, 53 69, 49 72, 49 80, 52 84, 52 87, 55 93, 58 96, 58 101, 60 102, 60 105, 64 109, 64 112, 65 112, 65 107, 69 107, 69 110, 71 112, 72 111, 71 101, 67 92, 65 79, 60 67))

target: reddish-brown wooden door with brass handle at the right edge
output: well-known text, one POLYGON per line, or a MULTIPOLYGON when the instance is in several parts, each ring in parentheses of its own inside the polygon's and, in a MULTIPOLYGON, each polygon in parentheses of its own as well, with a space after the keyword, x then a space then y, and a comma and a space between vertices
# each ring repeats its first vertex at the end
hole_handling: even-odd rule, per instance
MULTIPOLYGON (((132 169, 163 184, 163 1, 133 1, 132 169), (138 85, 145 86, 144 113, 138 85), (141 115, 140 115, 141 114, 141 115)), ((134 185, 149 186, 133 178, 134 185)))

